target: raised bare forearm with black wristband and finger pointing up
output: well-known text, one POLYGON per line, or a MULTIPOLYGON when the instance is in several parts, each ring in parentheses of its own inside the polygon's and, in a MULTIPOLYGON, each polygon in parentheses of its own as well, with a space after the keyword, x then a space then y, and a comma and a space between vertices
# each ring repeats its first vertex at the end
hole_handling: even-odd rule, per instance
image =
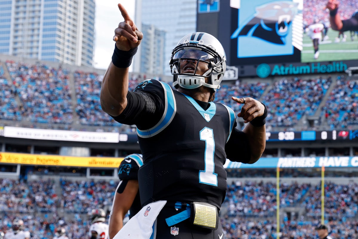
POLYGON ((118 8, 124 21, 115 29, 115 50, 103 77, 100 95, 102 110, 112 116, 120 115, 127 106, 129 66, 143 38, 126 9, 121 4, 118 8))

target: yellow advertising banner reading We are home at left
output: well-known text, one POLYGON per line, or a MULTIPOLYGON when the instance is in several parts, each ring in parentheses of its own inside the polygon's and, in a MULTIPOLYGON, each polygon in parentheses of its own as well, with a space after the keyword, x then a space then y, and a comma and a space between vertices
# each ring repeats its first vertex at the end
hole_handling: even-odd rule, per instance
POLYGON ((43 166, 117 168, 123 157, 73 157, 59 155, 5 153, 0 152, 0 163, 31 164, 43 166))

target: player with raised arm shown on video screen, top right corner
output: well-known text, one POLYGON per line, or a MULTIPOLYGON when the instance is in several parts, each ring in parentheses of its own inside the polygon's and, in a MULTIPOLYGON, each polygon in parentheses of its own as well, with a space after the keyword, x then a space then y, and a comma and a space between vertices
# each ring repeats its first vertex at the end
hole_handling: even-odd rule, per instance
POLYGON ((358 10, 355 10, 351 18, 342 20, 338 14, 338 6, 338 0, 328 0, 326 5, 332 29, 340 32, 358 31, 358 10))

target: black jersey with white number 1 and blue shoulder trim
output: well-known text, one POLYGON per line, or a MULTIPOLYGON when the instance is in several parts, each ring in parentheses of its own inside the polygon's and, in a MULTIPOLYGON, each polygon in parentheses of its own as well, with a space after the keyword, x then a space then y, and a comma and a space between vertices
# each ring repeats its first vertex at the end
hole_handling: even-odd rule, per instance
POLYGON ((138 174, 142 205, 202 201, 220 208, 227 187, 225 145, 234 111, 213 102, 204 110, 192 97, 155 80, 143 81, 135 91, 150 92, 165 105, 154 127, 137 127, 144 159, 138 174))

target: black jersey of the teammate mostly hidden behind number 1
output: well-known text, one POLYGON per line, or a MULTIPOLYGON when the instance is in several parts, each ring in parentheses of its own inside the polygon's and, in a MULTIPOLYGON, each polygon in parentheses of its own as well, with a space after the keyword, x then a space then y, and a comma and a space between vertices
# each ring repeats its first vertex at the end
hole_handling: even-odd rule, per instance
MULTIPOLYGON (((125 157, 118 167, 118 178, 121 181, 138 180, 138 170, 143 165, 141 154, 130 154, 125 157)), ((132 218, 141 209, 140 196, 137 193, 131 208, 129 209, 129 218, 132 218)))

